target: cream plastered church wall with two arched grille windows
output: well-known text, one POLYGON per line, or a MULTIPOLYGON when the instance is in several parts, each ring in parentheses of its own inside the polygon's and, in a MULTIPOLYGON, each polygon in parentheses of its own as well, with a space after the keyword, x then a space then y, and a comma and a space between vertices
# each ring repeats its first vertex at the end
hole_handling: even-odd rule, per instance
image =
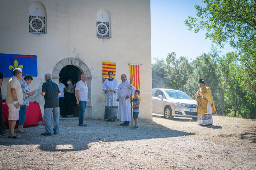
POLYGON ((141 64, 140 118, 152 119, 150 0, 9 0, 0 1, 0 14, 0 53, 37 56, 38 75, 29 87, 38 93, 30 102, 39 102, 42 114, 46 73, 57 84, 59 77, 79 81, 85 73, 84 117, 104 119, 102 61, 109 61, 119 84, 123 73, 130 80, 129 64, 141 64))

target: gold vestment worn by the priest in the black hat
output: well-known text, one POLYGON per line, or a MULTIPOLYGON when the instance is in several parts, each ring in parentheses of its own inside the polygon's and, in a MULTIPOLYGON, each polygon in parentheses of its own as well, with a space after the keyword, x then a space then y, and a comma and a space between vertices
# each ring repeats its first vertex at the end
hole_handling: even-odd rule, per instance
POLYGON ((212 105, 212 113, 215 112, 216 109, 213 102, 211 89, 209 87, 204 86, 204 88, 200 88, 196 92, 196 112, 198 113, 198 115, 203 115, 207 113, 207 101, 209 101, 212 105), (204 98, 202 98, 201 96, 197 98, 197 93, 202 94, 204 98))

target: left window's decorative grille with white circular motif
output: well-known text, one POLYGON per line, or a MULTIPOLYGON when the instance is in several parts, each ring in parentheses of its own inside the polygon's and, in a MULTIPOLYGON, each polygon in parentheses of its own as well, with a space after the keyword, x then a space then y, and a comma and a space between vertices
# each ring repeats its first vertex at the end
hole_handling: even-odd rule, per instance
POLYGON ((45 33, 45 17, 30 15, 28 27, 30 33, 45 33))

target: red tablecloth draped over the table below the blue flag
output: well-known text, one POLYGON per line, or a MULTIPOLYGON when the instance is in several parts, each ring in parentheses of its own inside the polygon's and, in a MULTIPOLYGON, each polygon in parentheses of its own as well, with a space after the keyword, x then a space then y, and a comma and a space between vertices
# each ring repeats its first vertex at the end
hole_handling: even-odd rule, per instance
MULTIPOLYGON (((4 125, 8 127, 8 106, 6 103, 3 103, 3 118, 4 125)), ((29 106, 27 108, 26 119, 23 126, 29 125, 38 125, 38 122, 43 122, 43 117, 41 113, 41 109, 39 103, 29 102, 29 106)), ((18 124, 16 124, 16 127, 18 124)))

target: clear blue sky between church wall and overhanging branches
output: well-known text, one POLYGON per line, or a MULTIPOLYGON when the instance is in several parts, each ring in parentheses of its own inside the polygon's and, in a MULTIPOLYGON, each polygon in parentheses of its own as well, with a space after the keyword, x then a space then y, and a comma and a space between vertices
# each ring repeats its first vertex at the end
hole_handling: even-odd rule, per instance
MULTIPOLYGON (((194 33, 187 30, 184 21, 188 16, 196 16, 195 4, 204 6, 201 0, 151 0, 151 57, 166 58, 168 53, 186 56, 194 60, 203 52, 210 51, 212 43, 205 40, 205 31, 194 33)), ((217 46, 217 48, 219 48, 217 46)), ((234 51, 229 44, 222 53, 234 51)))

